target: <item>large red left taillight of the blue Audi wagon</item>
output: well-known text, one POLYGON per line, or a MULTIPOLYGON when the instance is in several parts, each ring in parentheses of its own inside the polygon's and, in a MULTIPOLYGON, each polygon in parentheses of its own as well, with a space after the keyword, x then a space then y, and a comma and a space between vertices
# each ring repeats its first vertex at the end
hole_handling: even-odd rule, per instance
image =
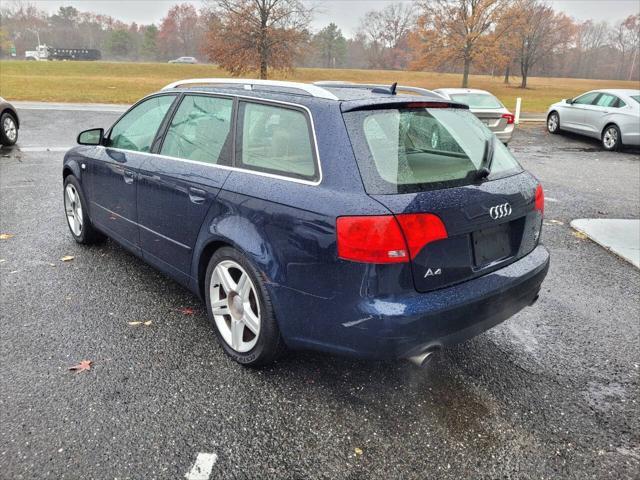
POLYGON ((338 256, 363 263, 405 263, 447 238, 442 220, 429 213, 340 217, 336 230, 338 256))

